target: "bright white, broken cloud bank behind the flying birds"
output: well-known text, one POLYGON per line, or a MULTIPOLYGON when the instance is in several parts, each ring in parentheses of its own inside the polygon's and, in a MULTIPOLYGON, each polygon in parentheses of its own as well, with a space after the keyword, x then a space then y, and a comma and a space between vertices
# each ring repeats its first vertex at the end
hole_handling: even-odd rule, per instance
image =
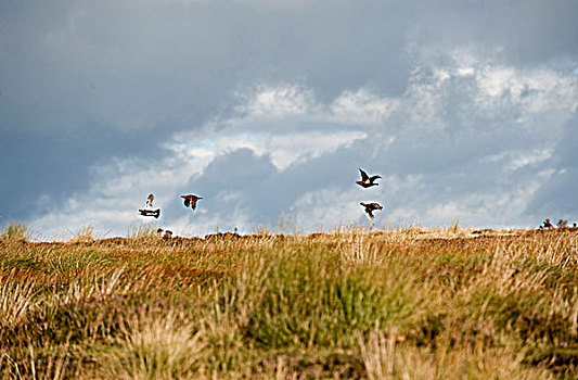
POLYGON ((564 170, 551 159, 575 128, 576 77, 455 54, 415 67, 397 98, 360 88, 324 103, 303 84, 260 84, 236 94, 232 117, 176 132, 159 159, 95 168, 86 193, 31 227, 121 231, 150 191, 164 225, 194 235, 274 229, 281 215, 304 231, 363 223, 359 201, 385 203, 378 225, 537 220, 528 205, 564 170), (356 187, 358 166, 381 174, 381 186, 356 187), (195 212, 178 198, 190 191, 205 197, 195 212))

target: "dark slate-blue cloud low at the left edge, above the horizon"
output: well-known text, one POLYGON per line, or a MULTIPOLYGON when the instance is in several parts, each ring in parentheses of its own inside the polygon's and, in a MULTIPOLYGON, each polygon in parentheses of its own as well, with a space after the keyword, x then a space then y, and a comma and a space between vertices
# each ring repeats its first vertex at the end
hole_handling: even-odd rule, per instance
POLYGON ((20 130, 2 132, 0 173, 4 219, 23 220, 50 213, 75 192, 86 191, 95 165, 115 159, 154 160, 165 150, 155 141, 168 139, 178 126, 165 123, 158 130, 133 132, 89 125, 67 131, 40 129, 36 135, 20 130), (49 195, 50 202, 39 199, 49 195))

